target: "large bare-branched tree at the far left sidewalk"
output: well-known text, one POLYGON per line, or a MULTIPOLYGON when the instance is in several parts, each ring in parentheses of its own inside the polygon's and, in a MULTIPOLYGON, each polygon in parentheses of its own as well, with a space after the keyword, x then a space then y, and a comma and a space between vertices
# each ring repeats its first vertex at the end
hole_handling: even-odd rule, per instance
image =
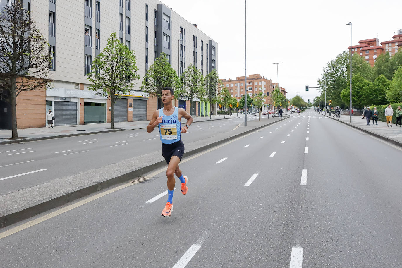
POLYGON ((0 85, 8 92, 12 139, 17 139, 16 98, 21 92, 49 86, 53 55, 31 12, 23 8, 20 0, 7 2, 0 10, 0 85))

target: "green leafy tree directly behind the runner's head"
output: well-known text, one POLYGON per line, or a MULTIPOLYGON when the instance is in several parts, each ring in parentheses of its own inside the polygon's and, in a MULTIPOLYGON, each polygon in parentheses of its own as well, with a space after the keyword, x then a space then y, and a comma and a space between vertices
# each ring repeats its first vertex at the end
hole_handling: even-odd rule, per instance
POLYGON ((165 53, 161 53, 148 68, 148 72, 142 80, 141 89, 152 98, 158 98, 158 107, 162 107, 162 89, 170 87, 174 90, 175 98, 178 98, 180 90, 180 79, 176 71, 170 65, 165 53))

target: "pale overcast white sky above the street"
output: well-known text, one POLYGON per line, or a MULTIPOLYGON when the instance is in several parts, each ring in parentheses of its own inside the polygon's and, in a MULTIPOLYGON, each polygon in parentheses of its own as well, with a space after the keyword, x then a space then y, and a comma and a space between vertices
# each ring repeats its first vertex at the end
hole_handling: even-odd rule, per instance
MULTIPOLYGON (((218 43, 220 78, 244 76, 244 0, 162 0, 218 43)), ((400 0, 247 0, 247 75, 261 74, 308 101, 326 63, 359 40, 392 40, 402 29, 400 0), (351 8, 349 8, 351 6, 351 8)))

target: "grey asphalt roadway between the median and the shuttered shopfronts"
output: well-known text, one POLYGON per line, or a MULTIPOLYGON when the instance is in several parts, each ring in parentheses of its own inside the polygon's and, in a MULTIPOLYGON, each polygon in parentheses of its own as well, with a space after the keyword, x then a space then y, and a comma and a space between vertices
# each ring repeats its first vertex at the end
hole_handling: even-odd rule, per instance
MULTIPOLYGON (((183 135, 183 141, 207 140, 217 133, 232 131, 242 122, 244 117, 194 122, 183 135)), ((160 146, 157 128, 152 133, 136 129, 0 145, 0 194, 100 168, 144 152, 160 152, 160 146)))

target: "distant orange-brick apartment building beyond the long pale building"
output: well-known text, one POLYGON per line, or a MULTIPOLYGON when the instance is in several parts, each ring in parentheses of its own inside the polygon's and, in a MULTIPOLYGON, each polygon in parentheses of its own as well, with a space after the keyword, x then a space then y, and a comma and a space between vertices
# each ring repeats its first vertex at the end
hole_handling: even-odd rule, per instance
MULTIPOLYGON (((238 101, 244 95, 244 76, 238 76, 235 80, 232 79, 221 79, 221 84, 219 85, 221 88, 227 88, 232 95, 232 97, 236 98, 238 101)), ((272 90, 275 89, 277 83, 273 83, 271 79, 266 79, 265 76, 261 76, 260 74, 251 74, 247 76, 247 87, 246 87, 246 94, 249 96, 254 96, 259 92, 263 92, 264 96, 264 107, 267 104, 271 104, 271 96, 272 90), (267 92, 269 92, 269 96, 267 96, 267 92)), ((285 88, 281 87, 281 92, 286 96, 285 88)), ((265 110, 265 108, 263 108, 265 110)))

